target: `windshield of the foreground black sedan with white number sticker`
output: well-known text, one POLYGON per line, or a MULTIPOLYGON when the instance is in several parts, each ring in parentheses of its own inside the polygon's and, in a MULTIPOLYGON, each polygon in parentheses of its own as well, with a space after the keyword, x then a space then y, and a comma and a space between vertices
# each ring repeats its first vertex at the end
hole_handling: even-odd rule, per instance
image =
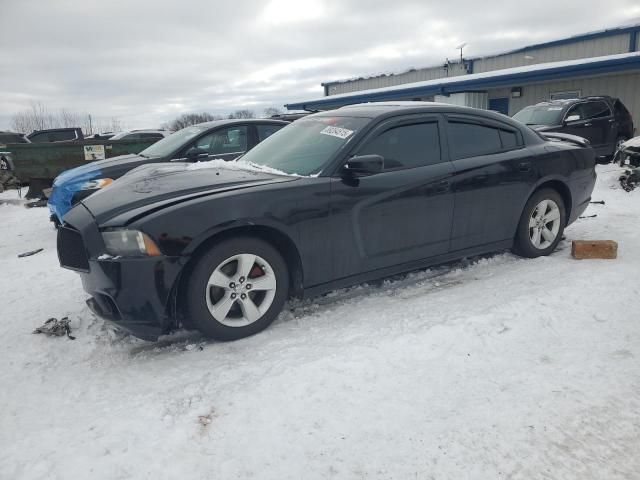
POLYGON ((291 175, 314 175, 369 121, 369 118, 333 116, 296 120, 238 161, 291 175))

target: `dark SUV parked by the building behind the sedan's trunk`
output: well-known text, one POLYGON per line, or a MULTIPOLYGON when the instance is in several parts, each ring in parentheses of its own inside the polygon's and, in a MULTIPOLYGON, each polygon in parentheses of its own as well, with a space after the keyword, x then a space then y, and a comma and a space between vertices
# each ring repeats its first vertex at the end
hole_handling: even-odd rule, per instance
POLYGON ((599 157, 612 158, 634 133, 629 110, 617 98, 605 96, 541 102, 523 108, 513 118, 540 132, 586 138, 599 157))

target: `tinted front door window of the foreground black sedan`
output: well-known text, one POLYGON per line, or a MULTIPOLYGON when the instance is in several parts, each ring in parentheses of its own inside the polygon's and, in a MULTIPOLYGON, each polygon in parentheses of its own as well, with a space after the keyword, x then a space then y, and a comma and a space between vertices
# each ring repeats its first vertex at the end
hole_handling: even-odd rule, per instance
POLYGON ((438 124, 417 123, 391 128, 367 143, 358 155, 382 155, 385 170, 440 163, 438 124))

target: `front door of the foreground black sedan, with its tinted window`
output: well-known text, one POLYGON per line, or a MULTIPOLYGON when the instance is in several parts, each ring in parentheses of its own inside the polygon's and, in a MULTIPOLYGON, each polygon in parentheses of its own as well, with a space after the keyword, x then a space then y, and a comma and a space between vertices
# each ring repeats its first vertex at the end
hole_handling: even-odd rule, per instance
POLYGON ((444 160, 439 116, 385 122, 355 155, 381 155, 384 170, 331 181, 335 278, 393 267, 449 251, 453 172, 444 160))

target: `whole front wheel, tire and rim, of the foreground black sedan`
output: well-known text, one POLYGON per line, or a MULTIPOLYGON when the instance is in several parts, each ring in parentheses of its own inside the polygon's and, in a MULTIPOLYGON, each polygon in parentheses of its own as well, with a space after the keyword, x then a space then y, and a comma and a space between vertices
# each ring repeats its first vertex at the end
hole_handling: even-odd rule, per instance
POLYGON ((187 311, 203 334, 236 340, 267 328, 289 293, 287 265, 270 244, 225 240, 197 261, 187 283, 187 311))

